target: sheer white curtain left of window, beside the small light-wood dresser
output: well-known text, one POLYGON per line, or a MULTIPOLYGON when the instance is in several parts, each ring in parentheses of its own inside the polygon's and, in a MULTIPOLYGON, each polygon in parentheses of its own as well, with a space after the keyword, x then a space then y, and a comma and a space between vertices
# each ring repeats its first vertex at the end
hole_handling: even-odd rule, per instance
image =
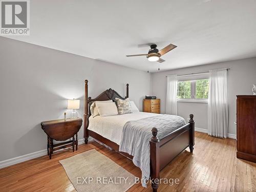
POLYGON ((167 76, 166 114, 177 115, 177 75, 167 76))

